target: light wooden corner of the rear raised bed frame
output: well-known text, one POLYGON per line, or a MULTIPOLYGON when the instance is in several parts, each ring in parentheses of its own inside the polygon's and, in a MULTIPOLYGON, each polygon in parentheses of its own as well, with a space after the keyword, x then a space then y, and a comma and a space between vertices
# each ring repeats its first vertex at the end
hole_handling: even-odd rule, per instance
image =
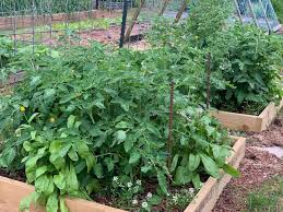
POLYGON ((276 118, 278 113, 283 106, 283 99, 280 105, 270 103, 259 115, 236 114, 222 110, 212 110, 214 116, 224 127, 231 130, 261 132, 267 130, 272 121, 276 118))

